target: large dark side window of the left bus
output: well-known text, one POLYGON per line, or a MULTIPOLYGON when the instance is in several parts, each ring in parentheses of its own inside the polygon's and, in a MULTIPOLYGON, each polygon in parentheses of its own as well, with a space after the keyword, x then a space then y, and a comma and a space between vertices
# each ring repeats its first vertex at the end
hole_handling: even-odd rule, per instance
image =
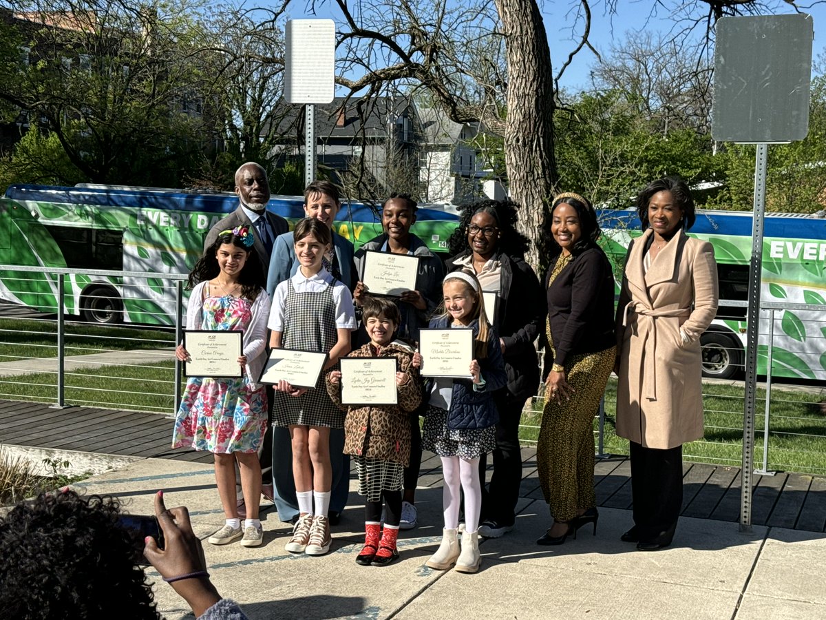
POLYGON ((123 231, 50 226, 66 266, 76 269, 123 269, 123 231))

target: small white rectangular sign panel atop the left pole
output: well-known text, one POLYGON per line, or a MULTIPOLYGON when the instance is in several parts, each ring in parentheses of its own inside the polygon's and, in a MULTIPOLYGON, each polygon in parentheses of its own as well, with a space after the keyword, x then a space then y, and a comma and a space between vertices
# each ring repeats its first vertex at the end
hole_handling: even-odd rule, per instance
POLYGON ((335 90, 335 22, 291 19, 284 31, 284 97, 288 103, 330 103, 335 90))

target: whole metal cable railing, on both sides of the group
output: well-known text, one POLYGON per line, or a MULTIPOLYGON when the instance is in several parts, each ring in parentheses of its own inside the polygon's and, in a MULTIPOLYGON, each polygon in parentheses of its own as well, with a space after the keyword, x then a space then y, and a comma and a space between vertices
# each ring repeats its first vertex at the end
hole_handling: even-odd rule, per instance
MULTIPOLYGON (((185 279, 0 265, 0 298, 17 299, 0 305, 0 398, 173 414, 183 379, 174 346, 181 340, 185 279), (12 270, 14 278, 7 277, 12 270), (99 294, 89 294, 94 290, 99 294)), ((738 312, 719 316, 701 341, 705 436, 684 446, 686 460, 742 463, 745 322, 738 312), (729 369, 724 379, 721 365, 729 369)), ((826 305, 766 303, 762 316, 759 372, 771 373, 757 392, 758 471, 826 474, 826 305)), ((540 386, 522 413, 525 445, 539 438, 543 408, 540 386)), ((615 415, 612 377, 595 415, 597 455, 628 454, 615 415)))

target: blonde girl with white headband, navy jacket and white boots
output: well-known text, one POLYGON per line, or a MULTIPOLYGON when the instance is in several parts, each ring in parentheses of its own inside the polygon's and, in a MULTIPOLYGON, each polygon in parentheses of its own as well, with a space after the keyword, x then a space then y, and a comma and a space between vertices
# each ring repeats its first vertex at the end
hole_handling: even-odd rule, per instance
MULTIPOLYGON (((455 565, 463 573, 479 570, 479 515, 482 483, 479 458, 496 446, 499 413, 493 393, 506 385, 499 336, 487 322, 482 287, 476 276, 453 271, 442 281, 442 312, 430 327, 470 327, 473 330, 472 379, 434 379, 425 415, 422 448, 439 455, 444 471, 444 532, 439 549, 425 562, 436 570, 455 565), (459 489, 464 491, 465 530, 459 551, 457 537, 459 489)), ((421 363, 416 354, 415 364, 421 363)), ((423 368, 422 370, 426 370, 423 368)))

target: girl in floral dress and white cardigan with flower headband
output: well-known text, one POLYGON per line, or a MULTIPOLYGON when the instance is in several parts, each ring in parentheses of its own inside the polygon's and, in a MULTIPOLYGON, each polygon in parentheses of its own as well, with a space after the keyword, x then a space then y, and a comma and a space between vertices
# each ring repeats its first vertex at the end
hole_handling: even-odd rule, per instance
MULTIPOLYGON (((192 293, 187 308, 188 330, 244 331, 241 379, 191 377, 175 419, 173 448, 192 447, 215 455, 215 477, 226 519, 209 541, 226 545, 241 539, 244 546, 259 546, 263 531, 259 521, 261 464, 258 449, 267 428, 267 394, 256 384, 267 344, 269 297, 258 284, 261 265, 253 249, 249 227, 221 232, 189 274, 192 293), (241 472, 241 489, 247 513, 241 527, 235 500, 235 462, 241 472)), ((190 359, 183 345, 175 349, 178 360, 190 359)))

